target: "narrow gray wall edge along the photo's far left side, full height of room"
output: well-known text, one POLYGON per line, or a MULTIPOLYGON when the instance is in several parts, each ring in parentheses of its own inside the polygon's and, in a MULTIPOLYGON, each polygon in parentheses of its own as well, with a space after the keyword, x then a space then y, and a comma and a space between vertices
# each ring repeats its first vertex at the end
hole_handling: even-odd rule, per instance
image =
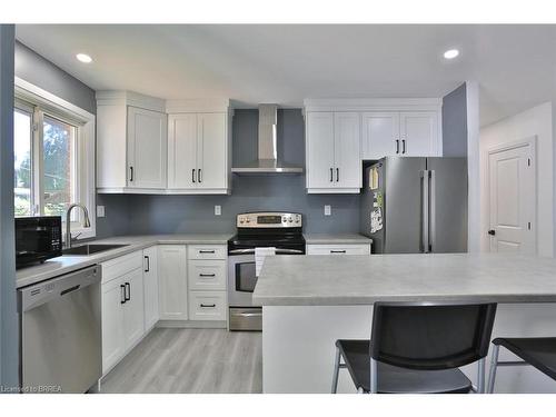
POLYGON ((18 386, 13 236, 13 24, 0 24, 0 387, 18 386))

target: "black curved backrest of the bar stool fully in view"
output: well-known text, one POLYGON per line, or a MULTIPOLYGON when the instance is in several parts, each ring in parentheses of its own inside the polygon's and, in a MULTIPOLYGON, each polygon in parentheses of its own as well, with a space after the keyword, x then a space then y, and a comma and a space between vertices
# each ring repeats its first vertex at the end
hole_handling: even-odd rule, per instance
POLYGON ((376 302, 370 356, 410 369, 449 369, 488 354, 496 304, 376 302))

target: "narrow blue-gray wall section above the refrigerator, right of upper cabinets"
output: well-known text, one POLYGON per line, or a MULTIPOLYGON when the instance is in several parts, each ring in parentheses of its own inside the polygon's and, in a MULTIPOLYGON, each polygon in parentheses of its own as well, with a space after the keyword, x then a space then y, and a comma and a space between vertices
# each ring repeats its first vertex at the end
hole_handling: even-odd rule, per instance
POLYGON ((467 97, 463 83, 443 98, 443 153, 467 157, 467 97))

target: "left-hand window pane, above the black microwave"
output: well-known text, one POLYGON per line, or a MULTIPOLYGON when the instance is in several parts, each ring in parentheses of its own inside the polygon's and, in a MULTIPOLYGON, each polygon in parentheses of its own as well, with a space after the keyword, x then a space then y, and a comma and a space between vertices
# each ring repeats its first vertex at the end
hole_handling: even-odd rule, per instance
POLYGON ((32 215, 31 143, 32 115, 16 109, 13 112, 14 176, 13 196, 16 217, 32 215))

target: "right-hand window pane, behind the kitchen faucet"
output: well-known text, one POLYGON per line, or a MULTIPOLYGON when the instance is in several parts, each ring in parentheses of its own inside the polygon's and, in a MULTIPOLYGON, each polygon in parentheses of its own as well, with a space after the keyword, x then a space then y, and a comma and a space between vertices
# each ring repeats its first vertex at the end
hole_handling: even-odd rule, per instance
POLYGON ((76 199, 76 127, 44 116, 42 133, 46 216, 63 216, 76 199))

